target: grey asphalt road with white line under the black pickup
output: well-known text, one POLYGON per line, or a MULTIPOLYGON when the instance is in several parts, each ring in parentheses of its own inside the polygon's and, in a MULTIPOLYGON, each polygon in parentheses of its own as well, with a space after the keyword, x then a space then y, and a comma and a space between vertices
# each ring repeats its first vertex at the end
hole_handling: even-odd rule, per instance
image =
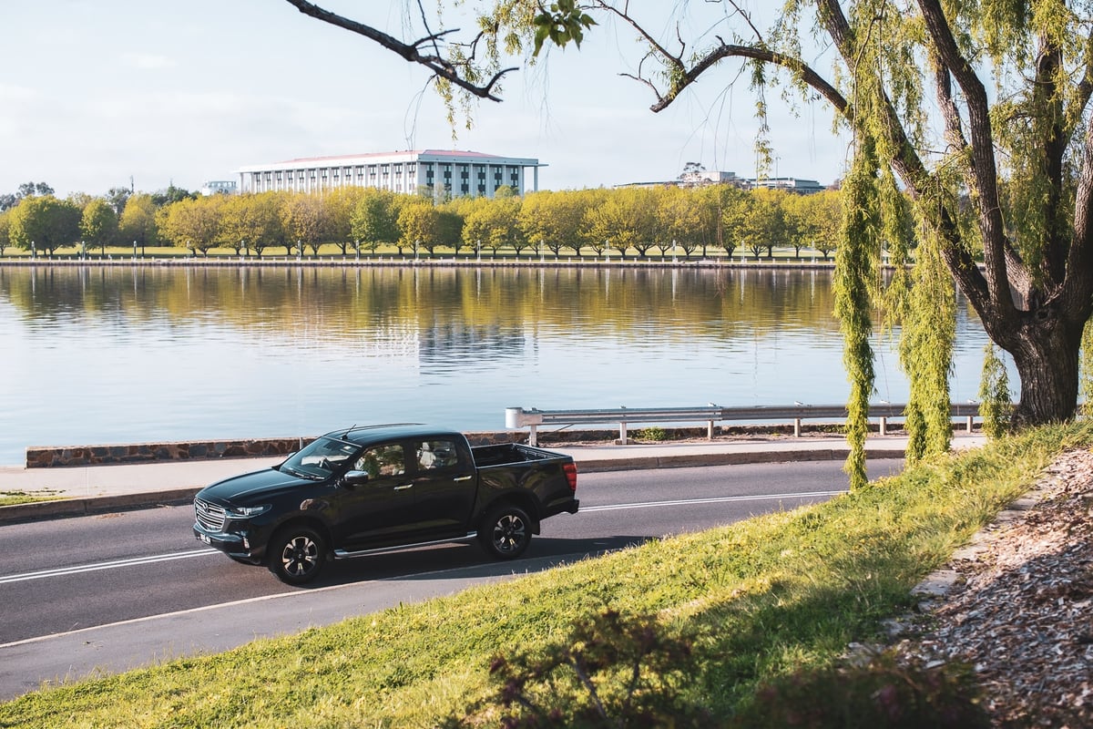
MULTIPOLYGON (((897 471, 870 461, 870 475, 897 471)), ((43 682, 226 650, 255 637, 448 595, 644 540, 729 524, 844 491, 837 461, 580 475, 577 515, 543 522, 526 555, 455 544, 328 565, 304 588, 197 542, 190 507, 0 528, 0 701, 43 682)))

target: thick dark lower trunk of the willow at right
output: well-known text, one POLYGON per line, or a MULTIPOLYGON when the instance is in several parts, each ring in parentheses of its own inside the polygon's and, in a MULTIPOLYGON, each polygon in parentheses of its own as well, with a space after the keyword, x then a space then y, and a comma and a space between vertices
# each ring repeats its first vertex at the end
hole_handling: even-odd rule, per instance
POLYGON ((1002 338, 1021 379, 1013 425, 1072 420, 1078 403, 1082 327, 1069 326, 1058 309, 1023 314, 1024 321, 1002 338))

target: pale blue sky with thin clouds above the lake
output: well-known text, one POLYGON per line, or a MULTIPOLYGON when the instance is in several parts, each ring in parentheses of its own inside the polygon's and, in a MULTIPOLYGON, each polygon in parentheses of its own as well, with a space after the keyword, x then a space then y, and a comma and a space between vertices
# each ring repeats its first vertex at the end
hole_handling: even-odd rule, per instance
MULTIPOLYGON (((317 4, 411 37, 400 0, 317 4)), ((480 102, 455 140, 426 69, 283 0, 0 0, 0 193, 195 190, 246 165, 423 149, 536 157, 555 190, 674 179, 689 162, 755 176, 759 122, 747 84, 728 87, 737 68, 654 114, 650 91, 620 75, 639 58, 633 34, 610 25, 507 77, 505 101, 480 102)), ((830 110, 767 101, 763 174, 841 178, 830 110)))

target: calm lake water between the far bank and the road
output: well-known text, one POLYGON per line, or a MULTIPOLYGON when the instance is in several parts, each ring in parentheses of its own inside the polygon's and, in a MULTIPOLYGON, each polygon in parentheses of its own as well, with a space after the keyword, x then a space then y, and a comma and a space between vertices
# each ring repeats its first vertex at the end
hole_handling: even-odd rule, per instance
MULTIPOLYGON (((831 273, 797 268, 2 267, 0 463, 27 446, 502 430, 544 410, 846 401, 831 273)), ((963 299, 953 400, 986 336, 963 299)), ((877 400, 904 402, 875 342, 877 400)))

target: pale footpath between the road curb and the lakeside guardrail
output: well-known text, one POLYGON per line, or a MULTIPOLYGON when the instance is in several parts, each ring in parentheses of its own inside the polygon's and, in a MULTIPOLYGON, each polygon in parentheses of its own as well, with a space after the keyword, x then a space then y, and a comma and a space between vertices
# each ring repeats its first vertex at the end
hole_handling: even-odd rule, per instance
MULTIPOLYGON (((953 448, 983 445, 985 436, 954 433, 953 448)), ((907 438, 872 435, 866 442, 867 457, 903 458, 907 438)), ((811 460, 845 460, 842 436, 741 436, 715 440, 548 446, 573 456, 577 471, 685 468, 732 463, 772 463, 811 460)), ((239 473, 269 468, 283 456, 175 460, 118 466, 62 468, 0 467, 0 494, 21 492, 48 501, 0 506, 0 524, 81 516, 124 508, 152 507, 190 501, 203 486, 239 473)))

